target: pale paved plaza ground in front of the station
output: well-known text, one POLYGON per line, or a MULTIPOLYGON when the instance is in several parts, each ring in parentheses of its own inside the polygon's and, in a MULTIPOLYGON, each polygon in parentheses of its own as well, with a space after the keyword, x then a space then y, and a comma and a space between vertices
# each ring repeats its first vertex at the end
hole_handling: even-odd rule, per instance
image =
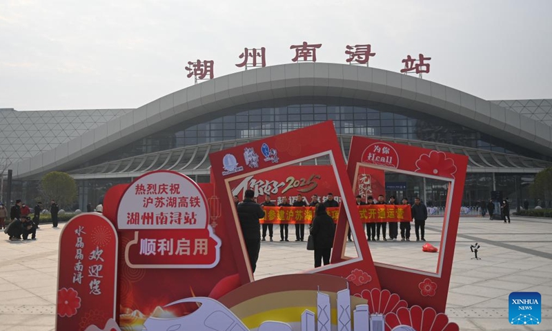
MULTIPOLYGON (((440 219, 429 219, 426 240, 439 245, 440 219)), ((63 226, 63 224, 61 224, 63 226)), ((412 229, 413 231, 414 229, 412 229)), ((43 225, 37 241, 0 240, 0 331, 54 330, 58 239, 61 229, 43 225)), ((255 277, 311 268, 306 243, 262 243, 255 277)), ((5 235, 4 235, 5 236, 5 235)), ((267 238, 268 239, 268 238, 267 238)), ((434 271, 437 254, 422 252, 422 243, 370 242, 375 261, 434 271)), ((354 243, 348 243, 353 254, 354 243)), ((464 217, 458 231, 446 314, 460 330, 552 330, 552 220, 513 217, 512 223, 464 217), (481 245, 479 261, 469 246, 481 245), (540 292, 543 322, 520 327, 508 323, 508 296, 513 291, 540 292)))

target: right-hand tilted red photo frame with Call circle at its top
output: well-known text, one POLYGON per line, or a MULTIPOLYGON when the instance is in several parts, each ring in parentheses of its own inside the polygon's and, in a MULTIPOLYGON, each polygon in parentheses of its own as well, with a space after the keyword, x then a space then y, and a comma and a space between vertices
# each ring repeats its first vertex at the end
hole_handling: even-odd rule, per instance
MULTIPOLYGON (((411 305, 431 307, 437 312, 444 312, 446 308, 467 165, 468 157, 464 155, 364 137, 353 137, 351 141, 347 172, 353 184, 366 169, 400 172, 449 183, 438 253, 440 255, 435 272, 375 263, 382 288, 399 293, 411 305)), ((337 227, 338 233, 346 230, 341 219, 337 227)), ((340 239, 342 237, 336 236, 337 246, 340 239)), ((339 261, 337 254, 333 254, 332 258, 335 262, 339 261)))

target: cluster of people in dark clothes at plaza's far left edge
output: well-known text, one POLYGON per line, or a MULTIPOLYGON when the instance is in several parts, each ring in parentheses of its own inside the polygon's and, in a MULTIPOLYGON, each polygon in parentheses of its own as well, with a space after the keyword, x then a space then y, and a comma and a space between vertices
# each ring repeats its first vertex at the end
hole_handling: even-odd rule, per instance
MULTIPOLYGON (((42 203, 38 202, 34 206, 33 217, 30 218, 30 208, 21 200, 16 200, 15 204, 8 210, 4 205, 0 205, 0 227, 4 233, 8 234, 11 241, 18 240, 37 240, 37 229, 40 223, 40 213, 43 210, 42 203), (6 219, 10 221, 7 222, 6 219), (30 238, 29 238, 30 235, 30 238)), ((59 206, 52 200, 50 201, 50 214, 52 217, 52 227, 57 228, 59 206)))

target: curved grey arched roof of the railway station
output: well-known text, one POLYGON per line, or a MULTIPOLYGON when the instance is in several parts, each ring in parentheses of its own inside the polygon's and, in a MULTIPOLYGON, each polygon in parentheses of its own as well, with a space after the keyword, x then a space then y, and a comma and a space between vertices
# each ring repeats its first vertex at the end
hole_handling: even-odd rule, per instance
MULTIPOLYGON (((214 118, 233 106, 288 97, 340 97, 388 103, 431 117, 449 119, 552 157, 552 126, 492 101, 387 70, 336 63, 293 63, 235 72, 168 94, 61 143, 53 150, 20 161, 14 165, 13 175, 15 179, 34 179, 52 170, 71 170, 70 173, 77 179, 134 177, 156 169, 208 174, 209 152, 247 140, 178 148, 80 170, 72 169, 175 123, 197 117, 214 118)), ((339 139, 346 154, 351 137, 340 136, 339 139)), ((472 172, 537 172, 550 165, 528 157, 486 150, 425 141, 393 140, 466 154, 470 157, 472 172)), ((323 164, 324 161, 320 162, 323 164)))

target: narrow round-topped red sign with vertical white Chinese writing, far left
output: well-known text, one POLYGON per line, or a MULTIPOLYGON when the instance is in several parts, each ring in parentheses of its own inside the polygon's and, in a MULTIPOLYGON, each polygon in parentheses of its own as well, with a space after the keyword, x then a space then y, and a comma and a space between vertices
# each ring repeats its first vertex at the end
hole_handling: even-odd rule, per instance
POLYGON ((117 232, 100 214, 69 221, 59 239, 56 330, 84 330, 115 319, 117 232))

